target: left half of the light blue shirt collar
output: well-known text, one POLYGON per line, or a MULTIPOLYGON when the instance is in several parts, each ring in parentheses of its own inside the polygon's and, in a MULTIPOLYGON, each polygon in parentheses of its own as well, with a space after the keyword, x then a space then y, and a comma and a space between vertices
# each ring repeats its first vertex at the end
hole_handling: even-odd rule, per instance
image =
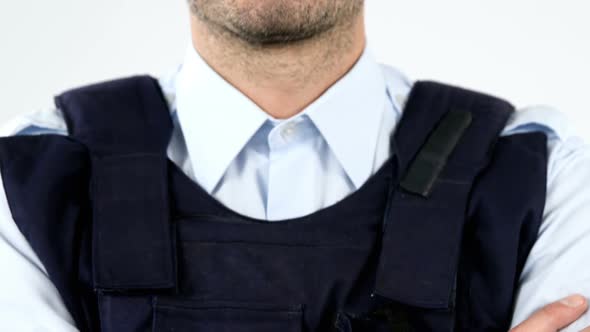
POLYGON ((268 116, 215 72, 192 45, 177 76, 176 107, 194 175, 211 193, 268 116))

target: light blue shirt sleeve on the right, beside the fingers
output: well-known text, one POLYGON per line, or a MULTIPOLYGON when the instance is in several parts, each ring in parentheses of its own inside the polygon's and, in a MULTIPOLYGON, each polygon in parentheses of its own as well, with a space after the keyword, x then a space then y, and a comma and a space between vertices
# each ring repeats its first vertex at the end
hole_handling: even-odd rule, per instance
MULTIPOLYGON (((590 147, 563 121, 548 134, 547 197, 539 236, 520 277, 512 325, 573 293, 590 298, 590 147)), ((538 129, 538 128, 537 128, 538 129)), ((563 331, 590 326, 590 312, 563 331)))

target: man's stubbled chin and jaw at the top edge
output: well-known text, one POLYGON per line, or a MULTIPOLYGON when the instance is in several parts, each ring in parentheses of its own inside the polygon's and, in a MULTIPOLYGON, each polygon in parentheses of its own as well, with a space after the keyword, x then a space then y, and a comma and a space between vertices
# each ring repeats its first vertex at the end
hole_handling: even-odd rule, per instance
POLYGON ((212 31, 251 46, 280 46, 317 38, 352 24, 364 0, 188 0, 212 31))

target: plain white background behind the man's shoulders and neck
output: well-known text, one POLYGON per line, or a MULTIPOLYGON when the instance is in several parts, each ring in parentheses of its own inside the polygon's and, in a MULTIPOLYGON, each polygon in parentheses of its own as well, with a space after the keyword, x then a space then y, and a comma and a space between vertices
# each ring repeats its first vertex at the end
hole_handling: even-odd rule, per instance
MULTIPOLYGON (((346 0, 341 0, 346 1, 346 0)), ((586 0, 367 0, 381 62, 413 79, 555 106, 590 141, 586 0)), ((0 0, 0 125, 64 89, 160 75, 188 45, 185 0, 0 0)))

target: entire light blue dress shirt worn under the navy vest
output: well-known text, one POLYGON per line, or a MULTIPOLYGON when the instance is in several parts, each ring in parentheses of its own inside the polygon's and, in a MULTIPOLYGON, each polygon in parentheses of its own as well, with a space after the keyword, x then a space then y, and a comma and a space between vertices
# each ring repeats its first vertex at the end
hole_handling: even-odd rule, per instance
MULTIPOLYGON (((412 87, 366 50, 314 103, 278 120, 223 80, 192 47, 160 85, 174 123, 169 158, 228 208, 269 222, 313 213, 364 184, 389 156, 389 137, 412 87)), ((546 107, 520 110, 502 135, 529 131, 549 137, 548 191, 513 324, 570 293, 590 296, 590 148, 570 132, 563 115, 546 107)), ((58 109, 21 116, 0 132, 48 133, 67 135, 58 109)), ((12 219, 1 179, 0 187, 1 330, 76 331, 12 219)), ((567 331, 588 325, 590 314, 567 331)))

